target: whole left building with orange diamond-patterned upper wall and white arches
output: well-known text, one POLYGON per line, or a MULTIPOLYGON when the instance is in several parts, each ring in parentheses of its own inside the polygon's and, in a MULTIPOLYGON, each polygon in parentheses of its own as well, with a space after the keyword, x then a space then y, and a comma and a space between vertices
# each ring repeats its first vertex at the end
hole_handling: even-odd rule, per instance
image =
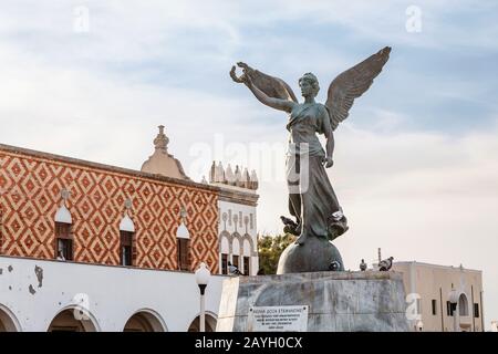
POLYGON ((195 183, 153 142, 141 171, 0 144, 0 332, 198 331, 201 262, 215 330, 227 262, 258 270, 257 181, 195 183))

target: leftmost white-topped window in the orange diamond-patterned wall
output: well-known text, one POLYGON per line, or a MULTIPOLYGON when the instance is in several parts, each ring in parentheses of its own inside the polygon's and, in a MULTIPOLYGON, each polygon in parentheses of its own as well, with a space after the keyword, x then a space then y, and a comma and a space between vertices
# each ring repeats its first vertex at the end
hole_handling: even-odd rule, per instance
POLYGON ((73 260, 73 219, 65 205, 55 212, 55 252, 54 257, 61 261, 73 260))

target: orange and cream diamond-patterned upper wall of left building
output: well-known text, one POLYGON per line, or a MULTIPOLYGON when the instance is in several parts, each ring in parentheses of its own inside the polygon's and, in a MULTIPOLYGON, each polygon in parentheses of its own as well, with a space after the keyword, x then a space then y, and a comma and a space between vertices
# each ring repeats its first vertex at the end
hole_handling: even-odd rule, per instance
POLYGON ((178 270, 185 209, 189 270, 204 261, 218 272, 218 195, 190 180, 0 145, 0 254, 55 258, 54 220, 65 206, 74 261, 120 266, 120 225, 129 217, 133 266, 178 270))

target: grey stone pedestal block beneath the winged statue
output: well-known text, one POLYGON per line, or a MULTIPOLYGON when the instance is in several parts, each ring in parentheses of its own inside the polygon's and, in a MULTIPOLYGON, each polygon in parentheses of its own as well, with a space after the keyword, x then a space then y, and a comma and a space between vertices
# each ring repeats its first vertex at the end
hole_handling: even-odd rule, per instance
POLYGON ((225 280, 218 332, 247 332, 252 306, 308 306, 308 332, 406 332, 396 272, 311 272, 225 280))

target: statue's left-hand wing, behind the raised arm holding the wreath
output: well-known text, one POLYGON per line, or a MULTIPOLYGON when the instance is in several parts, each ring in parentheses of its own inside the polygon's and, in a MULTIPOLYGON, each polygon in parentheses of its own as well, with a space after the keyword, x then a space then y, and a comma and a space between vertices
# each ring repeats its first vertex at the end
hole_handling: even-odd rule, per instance
MULTIPOLYGON (((282 79, 264 74, 259 70, 250 67, 246 63, 239 62, 237 65, 242 67, 243 74, 249 75, 256 87, 264 92, 268 96, 280 100, 289 100, 295 103, 298 102, 292 88, 282 79)), ((230 76, 235 81, 240 82, 240 79, 235 75, 235 66, 230 71, 230 76)))

